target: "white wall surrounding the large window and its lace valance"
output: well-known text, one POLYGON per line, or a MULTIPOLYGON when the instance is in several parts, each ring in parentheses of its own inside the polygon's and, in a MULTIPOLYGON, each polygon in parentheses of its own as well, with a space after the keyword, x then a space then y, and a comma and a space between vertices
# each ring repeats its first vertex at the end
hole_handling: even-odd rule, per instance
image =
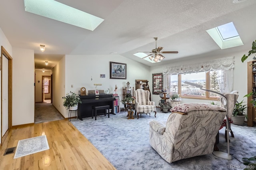
MULTIPOLYGON (((242 63, 241 57, 245 54, 248 53, 248 51, 245 51, 244 53, 234 53, 230 55, 224 55, 224 56, 212 56, 212 57, 205 57, 205 58, 200 58, 200 59, 186 59, 184 61, 178 61, 178 62, 172 62, 169 64, 166 64, 168 66, 174 66, 174 65, 186 65, 190 63, 197 63, 197 62, 202 62, 202 61, 212 61, 214 59, 218 58, 224 58, 224 57, 232 57, 234 56, 234 85, 233 89, 237 90, 239 93, 238 101, 247 101, 247 98, 243 98, 244 95, 247 94, 247 62, 242 63)), ((249 58, 248 61, 252 60, 252 58, 249 58)), ((164 61, 164 60, 163 60, 164 61)), ((164 66, 166 66, 164 65, 164 66)), ((153 73, 161 73, 163 71, 164 66, 155 66, 150 68, 150 74, 151 74, 151 79, 152 81, 152 74, 153 73)), ((151 87, 152 88, 152 85, 151 87)), ((151 97, 152 101, 156 103, 156 106, 158 105, 158 101, 160 100, 159 95, 152 95, 151 97)), ((200 102, 200 103, 210 103, 210 100, 204 100, 204 99, 182 99, 182 103, 190 103, 190 102, 200 102)), ((217 102, 219 104, 219 102, 217 102)))

